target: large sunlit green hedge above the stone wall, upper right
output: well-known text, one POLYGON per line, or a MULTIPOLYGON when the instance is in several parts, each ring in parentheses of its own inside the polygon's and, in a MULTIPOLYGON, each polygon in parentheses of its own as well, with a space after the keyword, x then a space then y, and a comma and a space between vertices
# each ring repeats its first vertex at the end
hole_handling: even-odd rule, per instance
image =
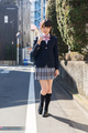
POLYGON ((73 51, 87 45, 88 0, 56 0, 58 30, 73 51))

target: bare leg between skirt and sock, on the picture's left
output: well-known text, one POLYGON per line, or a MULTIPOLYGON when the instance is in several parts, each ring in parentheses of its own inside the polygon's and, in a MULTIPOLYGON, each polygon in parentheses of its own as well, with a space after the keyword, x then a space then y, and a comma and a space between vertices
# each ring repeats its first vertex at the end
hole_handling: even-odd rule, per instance
POLYGON ((47 83, 47 80, 38 80, 40 81, 40 84, 41 84, 41 94, 45 95, 48 91, 48 83, 47 83))

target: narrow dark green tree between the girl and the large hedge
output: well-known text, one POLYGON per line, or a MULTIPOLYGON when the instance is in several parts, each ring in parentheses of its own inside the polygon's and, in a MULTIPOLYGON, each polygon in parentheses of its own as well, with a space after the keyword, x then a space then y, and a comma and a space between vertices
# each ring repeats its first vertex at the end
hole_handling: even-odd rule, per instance
POLYGON ((52 21, 52 34, 56 35, 58 39, 58 54, 66 53, 68 51, 68 47, 65 44, 65 42, 61 37, 61 32, 59 32, 57 19, 56 19, 55 0, 48 0, 46 18, 52 21))

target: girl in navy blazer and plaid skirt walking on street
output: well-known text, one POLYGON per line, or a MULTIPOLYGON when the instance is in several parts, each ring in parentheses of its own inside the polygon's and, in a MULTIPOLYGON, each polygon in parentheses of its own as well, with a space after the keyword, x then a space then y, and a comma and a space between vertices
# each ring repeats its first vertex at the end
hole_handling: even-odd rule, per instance
POLYGON ((57 38, 52 35, 52 23, 44 19, 41 22, 42 35, 33 42, 33 57, 35 59, 35 80, 41 84, 38 114, 48 115, 48 104, 52 96, 53 79, 59 74, 57 38), (43 111, 45 100, 45 106, 43 111))

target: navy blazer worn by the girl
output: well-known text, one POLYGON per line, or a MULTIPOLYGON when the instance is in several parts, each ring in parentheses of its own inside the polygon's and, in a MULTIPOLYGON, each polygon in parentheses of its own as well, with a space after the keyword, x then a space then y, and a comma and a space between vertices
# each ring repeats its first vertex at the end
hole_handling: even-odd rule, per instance
POLYGON ((57 38, 51 35, 47 43, 43 40, 41 44, 37 43, 37 38, 34 39, 32 49, 34 64, 37 68, 44 68, 47 64, 48 68, 59 69, 57 38))

